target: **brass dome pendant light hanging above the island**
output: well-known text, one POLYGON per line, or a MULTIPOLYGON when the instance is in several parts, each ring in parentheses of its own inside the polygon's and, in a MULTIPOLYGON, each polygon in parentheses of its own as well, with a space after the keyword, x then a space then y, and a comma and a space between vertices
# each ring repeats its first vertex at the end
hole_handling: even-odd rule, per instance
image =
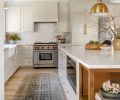
POLYGON ((97 16, 106 16, 108 15, 108 12, 108 7, 102 2, 102 0, 98 0, 97 3, 91 8, 91 14, 97 16))

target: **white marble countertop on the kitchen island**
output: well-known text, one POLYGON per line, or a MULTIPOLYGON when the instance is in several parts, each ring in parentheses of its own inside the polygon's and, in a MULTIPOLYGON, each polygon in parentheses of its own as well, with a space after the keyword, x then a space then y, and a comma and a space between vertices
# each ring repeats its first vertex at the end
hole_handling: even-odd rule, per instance
POLYGON ((59 46, 73 60, 79 61, 88 69, 120 68, 120 51, 85 50, 84 46, 59 46))

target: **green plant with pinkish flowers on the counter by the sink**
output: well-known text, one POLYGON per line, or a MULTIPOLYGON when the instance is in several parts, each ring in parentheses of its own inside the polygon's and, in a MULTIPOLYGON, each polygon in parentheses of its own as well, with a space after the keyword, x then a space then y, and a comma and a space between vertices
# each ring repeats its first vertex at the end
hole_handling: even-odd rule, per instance
POLYGON ((8 43, 17 43, 18 40, 21 40, 21 39, 17 33, 6 34, 6 41, 8 43))

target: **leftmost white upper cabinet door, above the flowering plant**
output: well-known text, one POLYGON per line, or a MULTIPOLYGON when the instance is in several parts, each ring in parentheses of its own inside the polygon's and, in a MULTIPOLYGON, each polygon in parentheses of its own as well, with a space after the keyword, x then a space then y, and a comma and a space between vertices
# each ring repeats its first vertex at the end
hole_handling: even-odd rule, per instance
POLYGON ((8 6, 6 10, 6 32, 20 31, 20 6, 8 6))

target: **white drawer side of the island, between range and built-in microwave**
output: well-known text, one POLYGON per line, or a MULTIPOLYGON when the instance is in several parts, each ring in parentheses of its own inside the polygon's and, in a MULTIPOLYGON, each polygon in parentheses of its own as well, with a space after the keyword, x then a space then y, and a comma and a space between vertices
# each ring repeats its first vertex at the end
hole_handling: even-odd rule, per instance
POLYGON ((77 94, 75 94, 67 79, 67 55, 60 48, 58 51, 58 77, 66 94, 67 100, 78 100, 77 94))

